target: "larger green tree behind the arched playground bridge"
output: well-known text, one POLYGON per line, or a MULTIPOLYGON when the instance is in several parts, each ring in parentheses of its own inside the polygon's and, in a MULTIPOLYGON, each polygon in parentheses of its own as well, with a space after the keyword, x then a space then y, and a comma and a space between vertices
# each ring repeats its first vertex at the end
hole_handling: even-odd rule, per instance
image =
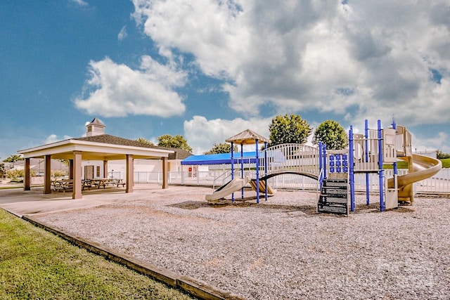
POLYGON ((272 119, 269 131, 269 147, 285 143, 304 144, 312 132, 312 127, 300 115, 278 115, 272 119))

